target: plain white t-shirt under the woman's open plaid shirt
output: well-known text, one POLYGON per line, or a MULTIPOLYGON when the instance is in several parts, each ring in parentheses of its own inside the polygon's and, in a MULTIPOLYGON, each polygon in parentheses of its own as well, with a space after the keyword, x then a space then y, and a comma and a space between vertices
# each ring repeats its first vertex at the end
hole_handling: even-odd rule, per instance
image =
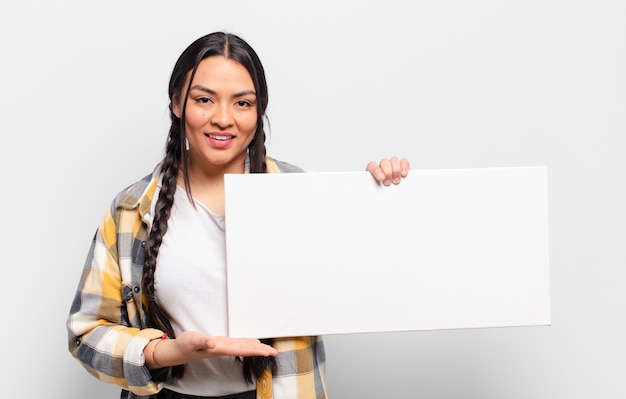
MULTIPOLYGON (((228 335, 225 217, 189 202, 177 187, 168 229, 157 258, 155 292, 176 334, 228 335)), ((189 395, 221 396, 253 390, 241 362, 221 356, 190 362, 167 388, 189 395)))

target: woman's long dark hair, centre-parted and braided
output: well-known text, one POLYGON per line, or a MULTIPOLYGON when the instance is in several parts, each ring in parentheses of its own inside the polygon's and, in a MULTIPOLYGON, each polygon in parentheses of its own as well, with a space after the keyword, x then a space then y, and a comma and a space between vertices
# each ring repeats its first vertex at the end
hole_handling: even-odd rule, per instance
MULTIPOLYGON (((266 171, 265 130, 263 122, 266 119, 265 110, 269 97, 265 71, 263 70, 261 60, 246 41, 231 33, 214 32, 195 40, 183 51, 176 61, 170 78, 168 93, 170 99, 170 120, 172 123, 165 146, 165 156, 162 162, 162 187, 155 206, 152 230, 146 242, 146 256, 143 265, 143 284, 148 297, 148 307, 146 310, 147 325, 163 330, 171 337, 175 337, 176 335, 172 329, 169 317, 156 302, 155 298, 154 273, 156 270, 156 260, 163 241, 163 236, 167 232, 167 221, 174 202, 176 178, 179 171, 182 172, 185 181, 185 189, 191 199, 191 187, 189 185, 188 175, 189 155, 185 149, 187 135, 184 123, 189 88, 198 68, 198 64, 200 64, 202 60, 216 55, 237 61, 246 68, 252 77, 257 97, 257 127, 254 138, 248 146, 250 172, 265 173, 266 171), (189 83, 185 87, 188 75, 189 83), (181 99, 183 100, 183 106, 180 118, 178 118, 173 112, 172 104, 179 102, 181 99)), ((271 344, 272 340, 263 340, 263 342, 271 344)), ((249 382, 258 378, 268 367, 275 370, 275 358, 261 356, 243 358, 244 378, 249 382)), ((181 377, 183 371, 183 365, 174 366, 172 376, 181 377)))

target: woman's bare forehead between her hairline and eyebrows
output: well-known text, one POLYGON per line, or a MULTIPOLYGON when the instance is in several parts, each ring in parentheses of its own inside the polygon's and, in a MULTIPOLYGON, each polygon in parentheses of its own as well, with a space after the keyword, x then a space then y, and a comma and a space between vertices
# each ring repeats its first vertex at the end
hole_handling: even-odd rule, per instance
POLYGON ((193 77, 192 86, 194 85, 212 89, 254 90, 254 83, 248 70, 241 63, 221 55, 200 61, 193 77))

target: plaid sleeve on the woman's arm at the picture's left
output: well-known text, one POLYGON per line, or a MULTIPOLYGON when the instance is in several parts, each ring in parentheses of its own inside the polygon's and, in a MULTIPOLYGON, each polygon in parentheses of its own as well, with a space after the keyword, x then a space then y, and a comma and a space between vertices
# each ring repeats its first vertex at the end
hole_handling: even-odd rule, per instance
POLYGON ((68 346, 71 355, 99 380, 137 395, 151 395, 163 383, 145 366, 143 350, 163 332, 131 326, 127 305, 134 299, 123 292, 132 282, 122 278, 114 212, 112 206, 92 240, 67 318, 68 346))

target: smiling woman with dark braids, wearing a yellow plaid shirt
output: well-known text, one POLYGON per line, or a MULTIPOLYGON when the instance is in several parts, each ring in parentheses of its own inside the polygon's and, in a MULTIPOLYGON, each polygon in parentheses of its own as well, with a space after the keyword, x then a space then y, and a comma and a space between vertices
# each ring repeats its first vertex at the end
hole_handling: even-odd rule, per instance
MULTIPOLYGON (((67 320, 71 354, 122 398, 326 398, 321 337, 227 337, 224 174, 303 172, 266 155, 257 54, 233 34, 201 37, 169 97, 164 159, 116 196, 94 237, 67 320)), ((409 164, 366 170, 391 185, 409 164)))

